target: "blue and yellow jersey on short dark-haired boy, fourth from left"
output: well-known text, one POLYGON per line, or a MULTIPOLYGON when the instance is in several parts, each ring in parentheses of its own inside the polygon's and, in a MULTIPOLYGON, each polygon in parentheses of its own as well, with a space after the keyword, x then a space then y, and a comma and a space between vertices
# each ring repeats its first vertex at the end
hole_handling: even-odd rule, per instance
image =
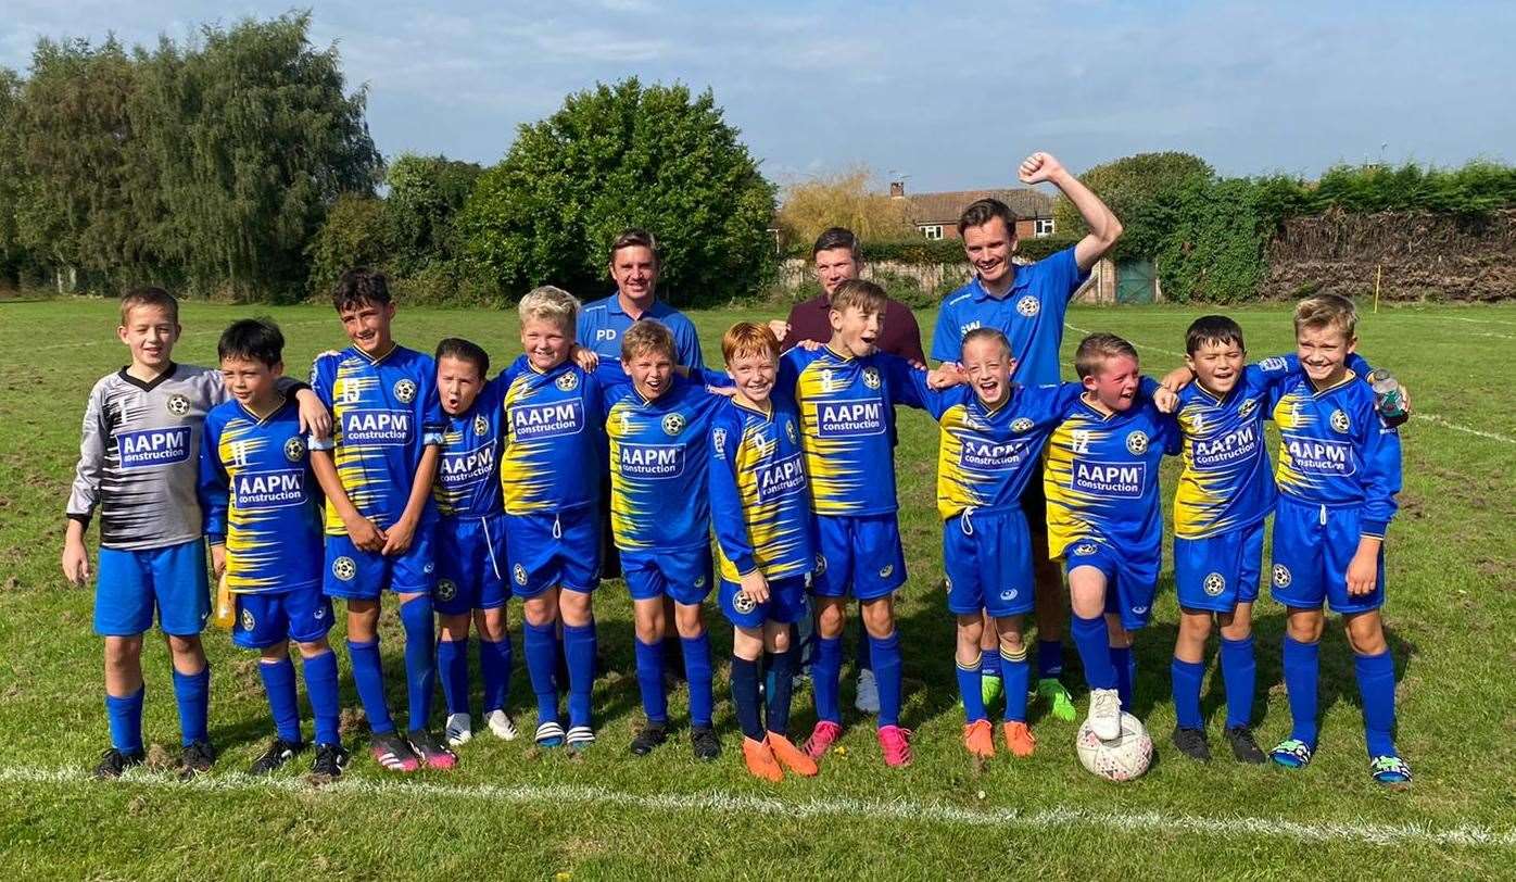
POLYGON ((490 517, 502 511, 500 456, 505 446, 505 383, 487 380, 467 411, 443 412, 443 450, 437 462, 437 512, 490 517))

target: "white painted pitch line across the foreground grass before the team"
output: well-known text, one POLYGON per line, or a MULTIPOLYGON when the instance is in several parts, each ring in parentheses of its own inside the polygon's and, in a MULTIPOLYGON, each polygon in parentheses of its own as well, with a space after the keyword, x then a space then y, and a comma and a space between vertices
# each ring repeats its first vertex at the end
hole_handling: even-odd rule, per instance
POLYGON ((1431 824, 1377 824, 1366 821, 1305 823, 1289 818, 1248 815, 1214 817, 1173 812, 1123 812, 1116 808, 1085 809, 1052 806, 1032 811, 972 809, 943 802, 863 800, 849 797, 802 799, 785 802, 773 797, 728 791, 635 794, 603 787, 578 785, 456 785, 432 782, 384 782, 347 777, 326 787, 314 787, 300 777, 252 777, 244 773, 199 776, 182 780, 168 773, 129 771, 120 783, 97 783, 82 768, 0 768, 0 783, 21 785, 141 785, 193 793, 271 791, 305 793, 323 797, 374 796, 382 799, 420 799, 438 802, 471 800, 491 805, 597 805, 655 812, 693 812, 728 815, 769 815, 782 818, 854 817, 905 824, 958 824, 998 829, 1066 829, 1093 827, 1132 834, 1187 832, 1210 837, 1263 837, 1302 843, 1358 843, 1372 846, 1454 846, 1516 849, 1516 829, 1495 829, 1474 824, 1437 827, 1431 824))

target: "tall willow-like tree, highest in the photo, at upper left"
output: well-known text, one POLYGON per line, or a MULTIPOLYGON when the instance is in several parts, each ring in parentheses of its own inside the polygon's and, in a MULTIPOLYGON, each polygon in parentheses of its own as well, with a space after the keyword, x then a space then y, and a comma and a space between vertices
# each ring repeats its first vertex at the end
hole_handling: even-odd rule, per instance
POLYGON ((344 92, 337 47, 315 48, 309 14, 139 53, 133 105, 143 167, 161 202, 153 238, 202 294, 291 294, 306 246, 344 192, 370 194, 381 158, 365 92, 344 92))

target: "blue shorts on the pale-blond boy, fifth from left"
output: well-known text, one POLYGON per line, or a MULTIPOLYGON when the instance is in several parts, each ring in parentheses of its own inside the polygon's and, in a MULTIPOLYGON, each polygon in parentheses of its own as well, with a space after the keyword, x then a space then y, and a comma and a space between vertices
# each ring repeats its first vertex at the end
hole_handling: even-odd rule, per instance
POLYGON ((600 583, 600 515, 593 505, 506 514, 505 556, 517 597, 537 597, 553 585, 594 591, 600 583))

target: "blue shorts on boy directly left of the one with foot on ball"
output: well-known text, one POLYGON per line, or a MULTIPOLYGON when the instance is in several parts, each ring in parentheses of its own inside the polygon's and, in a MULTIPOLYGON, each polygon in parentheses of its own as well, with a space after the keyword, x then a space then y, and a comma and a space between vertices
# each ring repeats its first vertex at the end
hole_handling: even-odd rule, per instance
POLYGON ((1020 508, 964 511, 943 521, 948 609, 994 618, 1034 606, 1032 540, 1020 508))

